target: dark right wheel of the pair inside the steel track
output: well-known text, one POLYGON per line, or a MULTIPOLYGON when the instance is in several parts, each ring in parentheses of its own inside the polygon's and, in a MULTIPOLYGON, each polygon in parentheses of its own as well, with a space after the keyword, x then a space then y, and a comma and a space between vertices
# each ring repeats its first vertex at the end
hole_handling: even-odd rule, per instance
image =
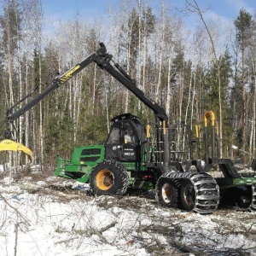
POLYGON ((180 197, 181 197, 181 203, 182 203, 182 207, 185 211, 193 211, 194 207, 195 207, 195 189, 194 189, 194 185, 191 183, 191 181, 189 179, 184 179, 183 183, 181 185, 181 190, 180 190, 180 197), (189 198, 188 198, 188 194, 187 194, 187 190, 188 189, 192 189, 192 197, 194 197, 194 202, 193 203, 189 203, 189 198))

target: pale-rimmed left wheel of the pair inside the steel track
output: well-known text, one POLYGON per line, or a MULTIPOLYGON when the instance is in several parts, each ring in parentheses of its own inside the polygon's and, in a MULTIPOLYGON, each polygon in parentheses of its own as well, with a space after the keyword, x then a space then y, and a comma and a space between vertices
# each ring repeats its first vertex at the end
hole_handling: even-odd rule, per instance
POLYGON ((163 207, 177 207, 177 188, 166 177, 160 177, 155 186, 156 201, 163 207), (165 190, 165 191, 164 191, 165 190))

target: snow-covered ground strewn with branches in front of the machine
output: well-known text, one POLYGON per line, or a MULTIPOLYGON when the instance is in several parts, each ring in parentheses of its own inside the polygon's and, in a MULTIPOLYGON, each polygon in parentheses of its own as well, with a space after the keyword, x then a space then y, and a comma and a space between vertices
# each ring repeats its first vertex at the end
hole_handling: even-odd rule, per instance
POLYGON ((59 177, 0 179, 0 255, 256 255, 256 212, 163 208, 154 191, 93 197, 59 177))

